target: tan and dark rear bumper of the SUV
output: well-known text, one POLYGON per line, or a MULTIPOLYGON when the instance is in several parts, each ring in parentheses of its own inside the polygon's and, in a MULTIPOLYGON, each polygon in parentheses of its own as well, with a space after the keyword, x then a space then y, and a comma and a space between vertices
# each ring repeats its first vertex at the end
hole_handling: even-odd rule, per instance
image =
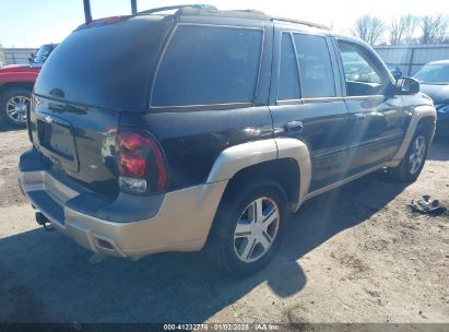
POLYGON ((200 250, 227 185, 205 183, 147 198, 120 193, 115 201, 106 201, 68 186, 39 165, 34 151, 21 156, 19 183, 29 202, 80 246, 116 257, 200 250), (139 209, 146 217, 135 220, 139 209), (117 216, 115 211, 121 213, 117 216), (114 249, 99 246, 98 239, 114 249))

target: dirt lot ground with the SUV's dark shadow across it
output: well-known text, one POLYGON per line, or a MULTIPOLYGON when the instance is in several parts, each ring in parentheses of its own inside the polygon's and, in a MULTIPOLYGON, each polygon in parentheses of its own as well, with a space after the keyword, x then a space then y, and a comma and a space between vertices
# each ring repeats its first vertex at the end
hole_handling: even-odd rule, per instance
POLYGON ((27 146, 25 131, 0 129, 0 322, 449 323, 449 216, 406 208, 424 193, 449 206, 448 142, 413 186, 371 175, 306 203, 274 262, 245 281, 201 253, 90 264, 34 222, 16 186, 27 146))

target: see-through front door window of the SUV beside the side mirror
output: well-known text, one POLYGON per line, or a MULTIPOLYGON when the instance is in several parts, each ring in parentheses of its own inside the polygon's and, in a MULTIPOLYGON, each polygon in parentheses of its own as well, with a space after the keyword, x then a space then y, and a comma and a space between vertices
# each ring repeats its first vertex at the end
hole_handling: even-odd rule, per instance
POLYGON ((386 75, 359 46, 339 42, 346 90, 350 96, 376 95, 381 91, 386 75))

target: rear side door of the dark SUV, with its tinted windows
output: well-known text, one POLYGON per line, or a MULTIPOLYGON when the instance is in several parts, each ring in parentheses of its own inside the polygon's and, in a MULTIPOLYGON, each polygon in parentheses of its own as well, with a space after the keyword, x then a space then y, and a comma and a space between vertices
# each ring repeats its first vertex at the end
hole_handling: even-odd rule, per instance
POLYGON ((270 93, 274 132, 277 138, 307 144, 312 166, 310 189, 316 190, 345 174, 348 120, 336 60, 323 34, 280 25, 274 43, 270 93))

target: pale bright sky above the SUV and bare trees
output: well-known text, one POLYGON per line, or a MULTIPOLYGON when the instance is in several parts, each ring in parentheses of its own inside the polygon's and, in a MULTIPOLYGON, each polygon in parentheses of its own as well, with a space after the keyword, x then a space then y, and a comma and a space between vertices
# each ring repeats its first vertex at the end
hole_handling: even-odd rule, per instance
MULTIPOLYGON (((348 33, 354 21, 370 14, 390 21, 401 14, 449 15, 448 0, 200 0, 218 9, 257 9, 273 15, 306 20, 348 33), (424 4, 425 3, 425 4, 424 4)), ((140 11, 163 5, 194 3, 182 0, 138 0, 140 11)), ((92 15, 101 19, 129 14, 129 0, 91 0, 92 15)), ((84 23, 82 0, 0 0, 0 43, 3 47, 38 47, 60 43, 84 23)))

